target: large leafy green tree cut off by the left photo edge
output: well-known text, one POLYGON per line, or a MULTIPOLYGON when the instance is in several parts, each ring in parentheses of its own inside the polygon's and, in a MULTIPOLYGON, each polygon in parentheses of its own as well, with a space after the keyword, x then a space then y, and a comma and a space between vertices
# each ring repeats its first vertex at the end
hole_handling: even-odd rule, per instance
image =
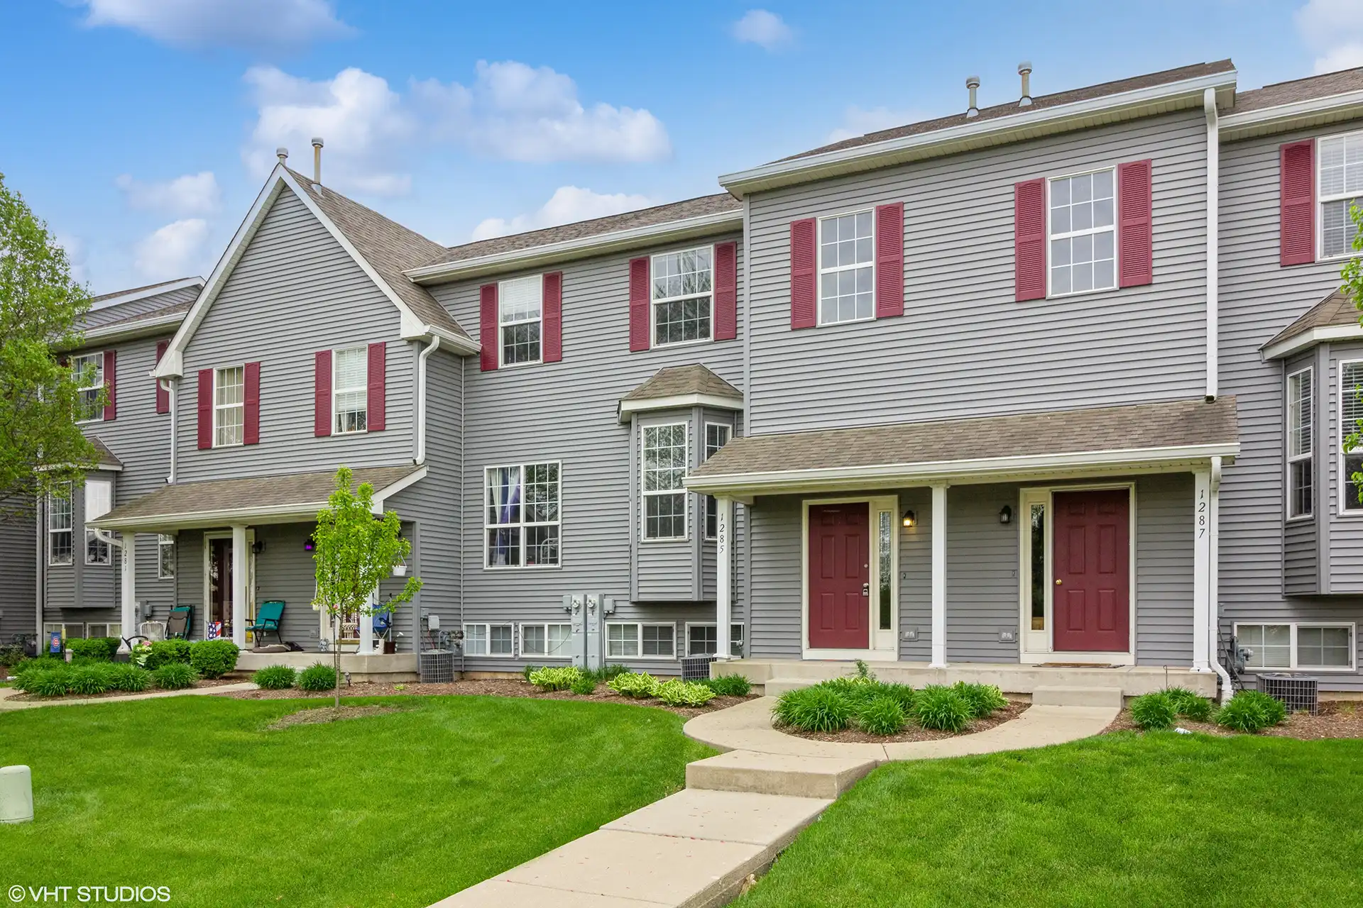
POLYGON ((79 346, 89 308, 65 250, 0 174, 0 519, 30 513, 35 496, 65 494, 95 463, 75 423, 86 377, 59 354, 79 346))

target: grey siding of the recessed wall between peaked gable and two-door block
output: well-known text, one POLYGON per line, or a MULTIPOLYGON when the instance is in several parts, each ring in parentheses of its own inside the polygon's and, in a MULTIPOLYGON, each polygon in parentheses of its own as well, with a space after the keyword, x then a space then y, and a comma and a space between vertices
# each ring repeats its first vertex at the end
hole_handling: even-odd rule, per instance
MULTIPOLYGON (((620 425, 620 398, 664 366, 702 363, 743 388, 743 338, 713 343, 630 351, 628 261, 671 249, 735 240, 725 234, 672 246, 583 259, 555 265, 563 271, 563 361, 483 372, 466 363, 463 508, 463 621, 563 622, 563 596, 600 592, 613 598, 611 621, 676 621, 677 651, 684 651, 686 621, 714 621, 713 604, 631 604, 635 535, 635 452, 632 425, 620 425), (491 466, 557 460, 560 472, 559 568, 484 566, 484 470, 491 466)), ((739 329, 743 329, 743 260, 739 260, 739 329)), ((540 274, 527 271, 454 282, 431 291, 461 324, 478 325, 478 287, 493 280, 540 274)), ((477 331, 474 329, 474 334, 477 331)), ((692 448, 694 451, 694 448, 692 448)), ((692 520, 701 502, 692 496, 692 520)), ((741 519, 740 519, 741 520, 741 519)), ((692 534, 692 539, 695 535, 692 534)), ((652 543, 650 543, 652 545, 652 543)), ((741 549, 740 549, 741 550, 741 549)), ((691 550, 688 550, 690 553, 691 550)), ((687 576, 694 558, 687 554, 687 576)), ((733 619, 744 619, 740 574, 733 619)), ((679 573, 683 569, 677 564, 679 573)), ((668 572, 668 576, 672 576, 668 572)), ((642 595, 658 595, 641 576, 642 595)), ((690 587, 690 584, 688 584, 690 587)), ((671 589, 671 587, 668 587, 671 589)), ((665 594, 667 591, 664 591, 665 594)), ((687 598, 691 598, 688 588, 687 598)), ((519 633, 519 632, 518 632, 519 633)), ((530 662, 536 662, 530 659, 530 662)), ((542 662, 542 659, 540 659, 542 662)), ((468 658, 470 671, 514 671, 519 659, 468 658)), ((645 664, 645 663, 639 663, 645 664)), ((647 663, 662 670, 662 663, 647 663)), ((675 663, 667 663, 675 671, 675 663)))

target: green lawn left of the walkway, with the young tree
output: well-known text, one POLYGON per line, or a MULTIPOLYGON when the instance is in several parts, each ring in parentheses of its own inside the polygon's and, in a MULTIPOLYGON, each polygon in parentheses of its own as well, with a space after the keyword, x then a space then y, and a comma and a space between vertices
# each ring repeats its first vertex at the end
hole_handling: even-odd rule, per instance
POLYGON ((37 813, 0 825, 0 889, 424 907, 677 791, 684 765, 713 753, 661 709, 348 702, 403 709, 279 731, 266 726, 305 704, 179 697, 0 713, 0 765, 33 768, 37 813))

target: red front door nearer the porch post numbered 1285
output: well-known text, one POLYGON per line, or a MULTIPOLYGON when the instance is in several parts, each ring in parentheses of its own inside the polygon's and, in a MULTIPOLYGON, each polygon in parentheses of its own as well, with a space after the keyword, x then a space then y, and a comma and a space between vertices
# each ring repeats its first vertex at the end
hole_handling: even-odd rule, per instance
POLYGON ((810 647, 870 649, 870 505, 810 505, 810 647))

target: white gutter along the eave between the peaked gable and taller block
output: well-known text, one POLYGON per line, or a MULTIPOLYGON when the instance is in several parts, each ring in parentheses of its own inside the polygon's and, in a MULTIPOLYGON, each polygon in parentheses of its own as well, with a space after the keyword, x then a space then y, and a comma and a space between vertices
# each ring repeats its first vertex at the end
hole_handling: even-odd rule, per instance
POLYGON ((454 280, 458 278, 474 278, 511 267, 532 267, 551 264, 555 261, 566 261, 582 255, 583 252, 600 255, 605 252, 650 245, 654 242, 680 240, 705 233, 716 233, 724 229, 739 229, 741 226, 743 211, 740 208, 735 208, 733 211, 720 211, 716 214, 683 218, 680 221, 667 221, 664 223, 654 223, 643 227, 600 233, 592 237, 563 240, 562 242, 549 242, 542 246, 497 252, 488 256, 478 256, 476 259, 421 265, 420 268, 410 268, 402 274, 405 274, 413 283, 439 283, 442 280, 454 280))

